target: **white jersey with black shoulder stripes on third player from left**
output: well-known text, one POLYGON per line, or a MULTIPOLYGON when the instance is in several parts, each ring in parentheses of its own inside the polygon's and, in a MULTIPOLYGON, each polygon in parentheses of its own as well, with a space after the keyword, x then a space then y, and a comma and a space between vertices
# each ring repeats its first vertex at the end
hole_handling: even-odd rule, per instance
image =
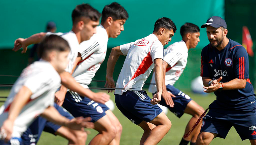
POLYGON ((78 52, 82 56, 82 61, 78 62, 77 67, 72 74, 76 82, 84 88, 88 88, 95 73, 101 67, 105 60, 107 52, 108 35, 106 29, 100 25, 97 26, 97 33, 88 41, 80 44, 78 52))

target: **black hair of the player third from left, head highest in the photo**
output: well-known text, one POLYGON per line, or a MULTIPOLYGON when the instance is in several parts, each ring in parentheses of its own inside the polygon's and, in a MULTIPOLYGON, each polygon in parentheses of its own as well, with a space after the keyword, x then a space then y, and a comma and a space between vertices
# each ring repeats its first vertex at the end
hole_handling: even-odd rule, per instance
POLYGON ((101 23, 105 22, 108 17, 112 17, 113 20, 127 20, 129 15, 124 7, 117 2, 113 2, 106 5, 102 10, 101 23))

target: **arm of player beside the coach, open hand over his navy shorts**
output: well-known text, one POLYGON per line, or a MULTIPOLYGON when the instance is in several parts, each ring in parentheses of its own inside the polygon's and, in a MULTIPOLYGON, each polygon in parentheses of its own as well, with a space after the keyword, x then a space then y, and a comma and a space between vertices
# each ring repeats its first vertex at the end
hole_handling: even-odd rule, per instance
POLYGON ((170 65, 166 62, 163 61, 163 87, 162 87, 162 98, 164 99, 164 101, 166 102, 167 105, 169 105, 170 107, 174 107, 174 102, 172 97, 175 97, 171 92, 167 91, 166 89, 166 85, 165 85, 165 74, 166 74, 166 69, 167 67, 169 67, 170 65))

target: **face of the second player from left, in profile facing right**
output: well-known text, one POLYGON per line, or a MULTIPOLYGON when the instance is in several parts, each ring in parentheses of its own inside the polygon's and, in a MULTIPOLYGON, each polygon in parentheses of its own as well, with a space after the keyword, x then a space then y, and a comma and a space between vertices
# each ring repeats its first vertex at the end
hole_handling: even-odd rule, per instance
POLYGON ((82 41, 89 40, 93 34, 96 33, 96 27, 99 25, 99 20, 98 21, 93 21, 93 20, 87 20, 87 23, 85 21, 82 31, 81 31, 81 38, 82 41))

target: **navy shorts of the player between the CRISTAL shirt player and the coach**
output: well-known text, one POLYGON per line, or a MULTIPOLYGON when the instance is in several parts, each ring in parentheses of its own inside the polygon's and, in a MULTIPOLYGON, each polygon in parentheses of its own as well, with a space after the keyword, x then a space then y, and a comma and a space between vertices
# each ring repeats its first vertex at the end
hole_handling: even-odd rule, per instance
MULTIPOLYGON (((166 104, 165 100, 162 98, 160 101, 160 105, 168 107, 168 109, 174 113, 177 117, 181 117, 184 114, 184 110, 187 107, 188 102, 190 102, 192 99, 180 91, 179 89, 175 88, 172 85, 167 85, 166 86, 167 91, 171 92, 173 95, 176 97, 172 97, 173 102, 174 102, 174 107, 170 107, 169 105, 166 104)), ((153 94, 153 96, 155 93, 153 94)))

